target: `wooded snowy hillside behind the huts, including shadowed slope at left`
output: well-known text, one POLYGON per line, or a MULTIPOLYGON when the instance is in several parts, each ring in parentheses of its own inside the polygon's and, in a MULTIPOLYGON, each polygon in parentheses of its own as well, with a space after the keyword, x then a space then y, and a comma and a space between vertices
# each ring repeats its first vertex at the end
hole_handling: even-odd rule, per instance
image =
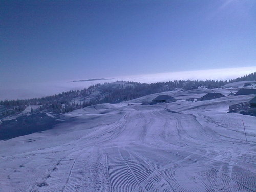
POLYGON ((100 103, 131 103, 136 100, 140 102, 143 99, 142 103, 146 104, 151 102, 158 93, 171 94, 178 100, 198 100, 210 92, 229 95, 236 93, 240 88, 251 89, 256 86, 254 81, 234 82, 222 87, 215 85, 222 83, 219 81, 169 81, 142 84, 117 81, 96 84, 88 89, 63 92, 44 98, 1 101, 0 139, 10 139, 51 129, 54 125, 65 120, 63 114, 100 103), (208 86, 203 85, 204 83, 208 86), (48 118, 49 114, 51 114, 50 118, 48 118), (36 119, 45 120, 35 125, 32 122, 35 122, 36 119))

